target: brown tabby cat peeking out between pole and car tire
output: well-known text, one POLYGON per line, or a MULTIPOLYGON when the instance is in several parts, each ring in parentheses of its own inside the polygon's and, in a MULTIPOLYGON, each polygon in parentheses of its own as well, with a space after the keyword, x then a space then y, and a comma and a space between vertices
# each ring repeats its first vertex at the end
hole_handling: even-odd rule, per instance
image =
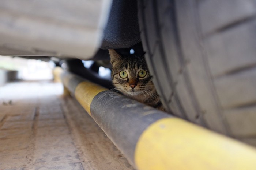
POLYGON ((115 90, 128 98, 165 111, 152 82, 144 56, 121 56, 109 49, 115 90))

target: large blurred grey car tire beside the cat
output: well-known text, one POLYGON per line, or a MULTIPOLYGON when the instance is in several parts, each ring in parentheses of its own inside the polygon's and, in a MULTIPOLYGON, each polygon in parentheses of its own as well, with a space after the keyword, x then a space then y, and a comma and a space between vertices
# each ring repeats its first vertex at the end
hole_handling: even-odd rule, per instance
POLYGON ((255 0, 138 0, 167 112, 256 146, 255 16, 255 0))

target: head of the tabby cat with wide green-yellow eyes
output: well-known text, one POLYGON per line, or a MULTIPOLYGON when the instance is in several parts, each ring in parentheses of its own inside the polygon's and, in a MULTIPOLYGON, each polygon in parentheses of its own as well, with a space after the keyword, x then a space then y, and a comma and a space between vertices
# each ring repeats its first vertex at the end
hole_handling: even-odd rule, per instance
POLYGON ((144 57, 122 57, 109 50, 112 64, 112 80, 116 90, 129 96, 145 95, 154 89, 144 57))

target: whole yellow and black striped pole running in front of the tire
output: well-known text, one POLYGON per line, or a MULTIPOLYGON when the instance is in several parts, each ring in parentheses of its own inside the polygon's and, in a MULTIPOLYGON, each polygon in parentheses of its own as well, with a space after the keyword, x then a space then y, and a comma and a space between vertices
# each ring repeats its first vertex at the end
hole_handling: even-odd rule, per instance
POLYGON ((66 88, 139 170, 255 170, 256 149, 68 72, 66 88))

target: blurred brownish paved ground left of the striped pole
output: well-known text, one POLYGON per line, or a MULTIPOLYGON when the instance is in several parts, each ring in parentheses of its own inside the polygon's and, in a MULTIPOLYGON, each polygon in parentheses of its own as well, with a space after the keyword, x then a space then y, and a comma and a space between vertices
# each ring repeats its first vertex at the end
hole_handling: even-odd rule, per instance
POLYGON ((0 87, 0 170, 131 170, 127 159, 60 83, 0 87))

